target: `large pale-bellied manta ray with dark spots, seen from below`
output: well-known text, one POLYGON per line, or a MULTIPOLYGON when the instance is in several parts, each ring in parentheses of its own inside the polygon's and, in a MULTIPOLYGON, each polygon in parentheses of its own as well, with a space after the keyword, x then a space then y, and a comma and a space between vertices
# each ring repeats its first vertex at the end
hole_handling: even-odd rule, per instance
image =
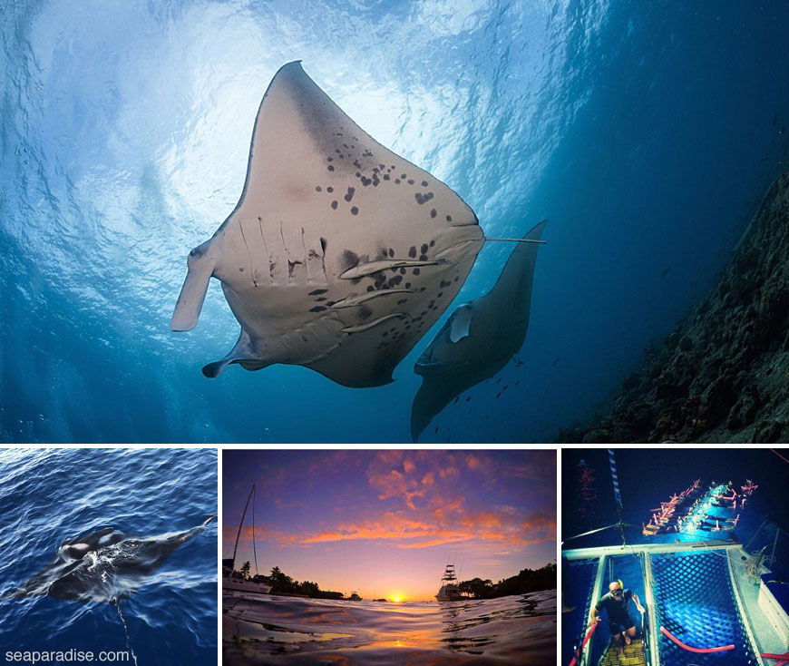
POLYGON ((483 241, 458 194, 289 63, 260 103, 238 205, 189 254, 170 328, 195 327, 213 277, 241 331, 206 377, 285 363, 381 386, 452 302, 483 241))

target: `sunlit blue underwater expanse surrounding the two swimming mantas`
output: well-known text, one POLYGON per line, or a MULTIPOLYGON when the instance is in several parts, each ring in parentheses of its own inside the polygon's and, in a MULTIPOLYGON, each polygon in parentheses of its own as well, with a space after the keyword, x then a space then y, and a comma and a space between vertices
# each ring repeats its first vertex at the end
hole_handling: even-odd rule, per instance
MULTIPOLYGON (((295 59, 488 235, 550 220, 510 390, 472 388, 423 441, 550 438, 704 294, 786 168, 787 28, 781 0, 6 0, 0 439, 409 441, 443 319, 373 389, 303 367, 203 377, 238 336, 216 282, 198 328, 169 330, 295 59)), ((455 304, 509 251, 485 247, 455 304)))

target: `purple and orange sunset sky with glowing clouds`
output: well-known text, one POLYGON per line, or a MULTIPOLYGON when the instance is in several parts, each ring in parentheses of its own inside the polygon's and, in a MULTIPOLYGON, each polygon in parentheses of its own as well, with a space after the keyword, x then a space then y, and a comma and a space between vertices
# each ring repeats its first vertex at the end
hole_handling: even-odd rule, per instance
MULTIPOLYGON (((446 563, 493 583, 553 562, 555 451, 225 450, 222 556, 257 484, 260 573, 433 600, 446 563)), ((252 562, 250 503, 236 568, 252 562)))

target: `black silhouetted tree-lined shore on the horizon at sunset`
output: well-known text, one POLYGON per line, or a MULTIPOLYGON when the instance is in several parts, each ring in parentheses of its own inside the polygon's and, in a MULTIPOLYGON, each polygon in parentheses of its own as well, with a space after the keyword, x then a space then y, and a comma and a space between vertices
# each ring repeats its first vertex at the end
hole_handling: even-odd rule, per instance
MULTIPOLYGON (((271 594, 285 594, 292 596, 306 596, 310 599, 338 599, 346 601, 358 601, 353 596, 348 596, 341 592, 331 592, 321 590, 317 583, 310 581, 295 581, 293 578, 283 573, 278 566, 275 566, 270 575, 264 576, 258 573, 256 576, 249 577, 251 564, 245 562, 240 568, 239 573, 247 580, 257 583, 265 583, 271 586, 271 594)), ((497 597, 510 596, 511 594, 528 594, 540 592, 541 590, 556 589, 556 563, 546 564, 540 569, 523 569, 517 575, 504 578, 498 583, 493 583, 489 579, 472 578, 470 581, 458 583, 458 588, 469 599, 495 599, 497 597)), ((376 599, 375 601, 385 601, 376 599)))

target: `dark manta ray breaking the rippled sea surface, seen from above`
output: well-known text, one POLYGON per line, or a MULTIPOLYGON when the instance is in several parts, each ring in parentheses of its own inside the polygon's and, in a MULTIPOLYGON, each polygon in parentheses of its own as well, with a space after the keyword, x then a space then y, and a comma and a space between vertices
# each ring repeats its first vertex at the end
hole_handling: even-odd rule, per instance
POLYGON ((132 536, 108 527, 66 540, 51 563, 5 596, 117 603, 130 597, 170 553, 213 519, 209 516, 184 532, 132 536))

